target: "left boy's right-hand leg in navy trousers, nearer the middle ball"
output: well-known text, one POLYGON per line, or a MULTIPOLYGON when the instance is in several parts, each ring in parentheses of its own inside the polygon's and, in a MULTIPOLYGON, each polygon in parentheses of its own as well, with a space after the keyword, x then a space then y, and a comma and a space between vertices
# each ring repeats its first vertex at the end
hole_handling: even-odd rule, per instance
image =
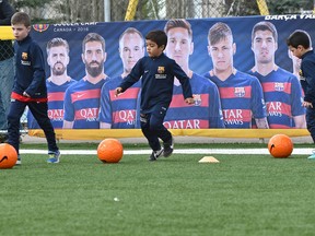
POLYGON ((46 140, 48 143, 48 151, 56 152, 58 151, 58 146, 56 143, 56 134, 54 127, 50 122, 50 119, 47 115, 48 105, 47 103, 30 103, 28 108, 38 122, 39 127, 44 130, 46 140))

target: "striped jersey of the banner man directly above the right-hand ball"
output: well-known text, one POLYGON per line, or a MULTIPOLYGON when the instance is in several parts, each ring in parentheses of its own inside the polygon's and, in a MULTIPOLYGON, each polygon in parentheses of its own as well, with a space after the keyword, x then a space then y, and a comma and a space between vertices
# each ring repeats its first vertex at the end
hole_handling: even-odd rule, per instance
POLYGON ((292 116, 305 114, 302 106, 302 87, 298 78, 279 67, 266 76, 253 70, 249 73, 257 76, 262 85, 269 127, 272 129, 294 127, 292 116))

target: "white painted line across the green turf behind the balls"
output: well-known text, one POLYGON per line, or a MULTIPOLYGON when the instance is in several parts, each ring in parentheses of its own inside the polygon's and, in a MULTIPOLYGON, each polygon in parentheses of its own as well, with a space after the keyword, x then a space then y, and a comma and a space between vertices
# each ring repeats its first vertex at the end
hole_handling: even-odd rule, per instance
MULTIPOLYGON (((292 155, 310 155, 313 149, 294 149, 292 155)), ((62 155, 96 155, 96 150, 60 150, 62 155)), ((126 155, 151 154, 150 150, 124 150, 126 155)), ((20 150, 21 154, 47 154, 46 150, 20 150)), ((266 154, 268 149, 180 149, 174 150, 174 154, 266 154)))

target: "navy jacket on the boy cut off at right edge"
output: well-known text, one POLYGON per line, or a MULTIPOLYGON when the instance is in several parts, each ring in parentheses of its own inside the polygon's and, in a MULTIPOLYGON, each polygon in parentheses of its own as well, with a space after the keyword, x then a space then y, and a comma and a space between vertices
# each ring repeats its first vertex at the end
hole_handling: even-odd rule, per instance
POLYGON ((301 62, 301 85, 304 90, 304 101, 315 105, 315 54, 313 50, 302 56, 301 62))

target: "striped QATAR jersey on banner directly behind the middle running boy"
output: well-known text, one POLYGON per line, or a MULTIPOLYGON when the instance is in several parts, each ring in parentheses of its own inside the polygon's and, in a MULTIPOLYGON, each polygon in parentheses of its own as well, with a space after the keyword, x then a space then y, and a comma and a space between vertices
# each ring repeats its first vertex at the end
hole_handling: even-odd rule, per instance
POLYGON ((189 82, 195 104, 187 105, 180 84, 174 85, 164 126, 167 129, 224 128, 217 85, 197 73, 192 73, 189 82))

